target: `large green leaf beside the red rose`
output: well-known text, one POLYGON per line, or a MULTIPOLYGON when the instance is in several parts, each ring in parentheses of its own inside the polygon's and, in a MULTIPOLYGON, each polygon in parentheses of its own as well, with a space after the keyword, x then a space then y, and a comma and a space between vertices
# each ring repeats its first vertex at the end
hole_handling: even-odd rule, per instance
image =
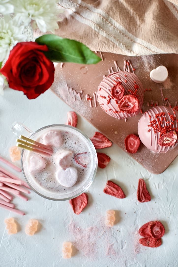
POLYGON ((96 64, 101 58, 93 53, 86 45, 62 38, 54 34, 45 34, 35 40, 40 45, 47 45, 46 57, 54 62, 74 62, 80 64, 96 64))

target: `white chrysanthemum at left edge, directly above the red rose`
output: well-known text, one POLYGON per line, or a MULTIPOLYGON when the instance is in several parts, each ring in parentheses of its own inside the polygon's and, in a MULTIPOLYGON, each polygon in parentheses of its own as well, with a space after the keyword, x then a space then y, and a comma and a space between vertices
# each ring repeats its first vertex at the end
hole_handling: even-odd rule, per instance
POLYGON ((18 26, 16 19, 11 19, 9 15, 5 15, 0 19, 0 62, 7 60, 10 50, 18 42, 26 41, 26 35, 21 34, 24 26, 18 26))

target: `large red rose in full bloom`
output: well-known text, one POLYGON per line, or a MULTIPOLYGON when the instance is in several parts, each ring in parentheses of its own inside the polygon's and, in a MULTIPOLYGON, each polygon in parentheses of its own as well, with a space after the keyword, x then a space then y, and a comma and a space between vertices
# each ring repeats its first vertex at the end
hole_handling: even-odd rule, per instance
POLYGON ((35 42, 18 43, 0 70, 9 87, 23 91, 29 99, 44 93, 54 81, 53 62, 42 51, 48 51, 48 47, 35 42))

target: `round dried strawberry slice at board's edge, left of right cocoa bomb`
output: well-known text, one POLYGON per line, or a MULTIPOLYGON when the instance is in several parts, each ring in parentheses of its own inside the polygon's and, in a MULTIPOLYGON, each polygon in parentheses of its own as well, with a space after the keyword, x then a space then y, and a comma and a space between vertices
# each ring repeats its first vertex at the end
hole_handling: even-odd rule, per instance
POLYGON ((125 150, 129 153, 136 153, 140 146, 140 138, 133 133, 130 133, 124 140, 125 150))

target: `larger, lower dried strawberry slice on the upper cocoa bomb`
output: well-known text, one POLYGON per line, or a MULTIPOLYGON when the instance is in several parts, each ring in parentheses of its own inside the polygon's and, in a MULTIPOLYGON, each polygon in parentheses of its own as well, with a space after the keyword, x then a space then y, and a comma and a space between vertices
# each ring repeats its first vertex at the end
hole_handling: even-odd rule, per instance
POLYGON ((134 113, 139 109, 139 100, 134 95, 125 95, 120 100, 117 109, 120 112, 124 111, 128 114, 134 113))

